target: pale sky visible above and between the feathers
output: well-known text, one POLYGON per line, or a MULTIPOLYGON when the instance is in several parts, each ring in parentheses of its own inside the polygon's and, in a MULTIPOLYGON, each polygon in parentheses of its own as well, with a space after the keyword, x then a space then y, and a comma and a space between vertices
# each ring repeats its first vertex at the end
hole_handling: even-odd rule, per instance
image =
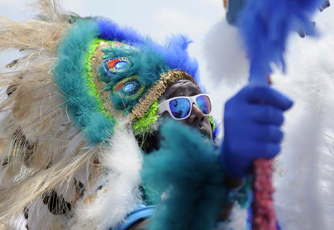
MULTIPOLYGON (((33 16, 25 3, 33 0, 0 0, 0 15, 14 20, 33 16)), ((224 17, 223 0, 63 0, 64 9, 81 16, 105 16, 120 25, 136 28, 144 35, 164 43, 172 33, 187 34, 193 43, 189 53, 199 62, 201 78, 213 101, 212 114, 222 121, 223 105, 235 90, 212 84, 206 73, 210 65, 205 62, 202 47, 209 28, 224 17)), ((316 17, 322 31, 334 31, 334 7, 316 17)), ((12 60, 15 53, 0 55, 0 65, 12 60)))

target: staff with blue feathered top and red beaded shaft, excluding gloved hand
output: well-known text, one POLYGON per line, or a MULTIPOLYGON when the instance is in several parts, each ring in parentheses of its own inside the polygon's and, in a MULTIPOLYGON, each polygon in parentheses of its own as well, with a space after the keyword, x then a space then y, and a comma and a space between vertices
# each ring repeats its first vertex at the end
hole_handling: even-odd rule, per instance
MULTIPOLYGON (((288 35, 299 28, 313 35, 315 30, 309 15, 320 5, 325 8, 329 6, 329 1, 224 0, 224 6, 228 9, 228 22, 237 24, 243 35, 250 61, 249 84, 270 84, 272 63, 285 70, 283 53, 288 35)), ((254 162, 253 230, 276 230, 272 163, 273 160, 266 159, 254 162)))

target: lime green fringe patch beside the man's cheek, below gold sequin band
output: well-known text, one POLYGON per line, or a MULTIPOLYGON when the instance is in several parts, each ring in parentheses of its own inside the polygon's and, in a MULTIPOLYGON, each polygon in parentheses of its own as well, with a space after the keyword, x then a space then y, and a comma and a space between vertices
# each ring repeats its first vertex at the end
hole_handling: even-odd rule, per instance
POLYGON ((144 116, 140 117, 132 125, 135 135, 147 133, 151 129, 151 125, 158 120, 158 100, 150 106, 150 109, 144 116))

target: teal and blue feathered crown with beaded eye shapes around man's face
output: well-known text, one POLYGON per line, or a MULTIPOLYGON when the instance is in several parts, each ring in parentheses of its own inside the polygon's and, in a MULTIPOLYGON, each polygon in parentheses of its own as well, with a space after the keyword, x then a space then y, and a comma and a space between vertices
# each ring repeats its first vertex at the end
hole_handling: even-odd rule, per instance
POLYGON ((107 20, 72 26, 59 45, 53 76, 90 142, 104 141, 120 118, 130 118, 136 135, 152 131, 158 99, 175 81, 192 81, 201 91, 197 63, 185 50, 188 43, 174 37, 163 47, 107 20))

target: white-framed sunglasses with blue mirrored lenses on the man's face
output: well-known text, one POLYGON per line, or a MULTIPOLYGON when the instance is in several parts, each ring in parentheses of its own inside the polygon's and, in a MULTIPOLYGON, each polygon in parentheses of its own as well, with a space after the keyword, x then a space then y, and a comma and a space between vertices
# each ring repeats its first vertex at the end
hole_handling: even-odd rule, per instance
POLYGON ((198 94, 192 97, 175 97, 160 103, 158 114, 161 115, 165 111, 175 120, 186 119, 191 114, 192 104, 200 109, 203 115, 211 114, 211 100, 207 94, 198 94))

